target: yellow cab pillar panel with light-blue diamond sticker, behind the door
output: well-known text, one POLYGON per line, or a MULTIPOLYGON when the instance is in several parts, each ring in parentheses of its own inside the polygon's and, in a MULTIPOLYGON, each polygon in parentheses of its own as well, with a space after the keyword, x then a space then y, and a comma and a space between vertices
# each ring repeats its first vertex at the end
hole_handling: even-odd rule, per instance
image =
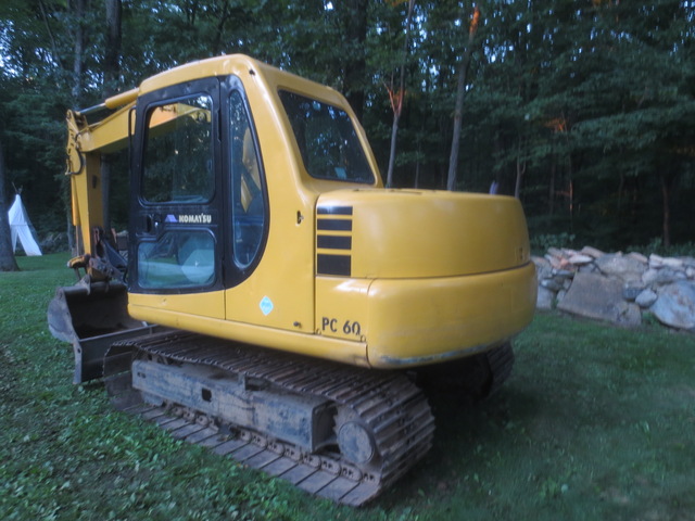
POLYGON ((227 318, 289 331, 314 331, 314 232, 317 198, 301 182, 300 165, 285 132, 275 87, 260 64, 243 56, 201 62, 224 65, 244 85, 268 190, 269 234, 249 279, 226 292, 227 318))

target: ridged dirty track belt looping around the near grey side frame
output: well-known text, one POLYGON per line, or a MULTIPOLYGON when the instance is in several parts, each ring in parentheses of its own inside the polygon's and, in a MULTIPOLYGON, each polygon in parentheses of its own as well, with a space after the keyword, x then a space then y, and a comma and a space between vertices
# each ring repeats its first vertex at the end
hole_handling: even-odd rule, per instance
POLYGON ((106 355, 104 377, 116 408, 154 421, 177 439, 210 447, 215 454, 290 481, 311 494, 351 506, 364 505, 401 478, 427 454, 434 433, 425 395, 404 374, 248 347, 195 333, 169 331, 114 344, 106 355), (288 445, 249 431, 238 431, 241 436, 230 437, 193 418, 172 416, 164 407, 147 405, 130 387, 129 368, 136 352, 163 360, 215 366, 348 407, 369 425, 380 455, 378 465, 361 471, 339 455, 299 455, 292 447, 282 448, 288 445))

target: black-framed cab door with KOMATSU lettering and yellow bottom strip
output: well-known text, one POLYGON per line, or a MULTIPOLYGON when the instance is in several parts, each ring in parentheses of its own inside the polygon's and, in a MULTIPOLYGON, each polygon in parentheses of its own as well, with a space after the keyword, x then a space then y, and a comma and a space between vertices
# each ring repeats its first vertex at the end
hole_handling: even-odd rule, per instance
MULTIPOLYGON (((205 78, 138 100, 131 148, 130 301, 224 318, 225 176, 219 81, 205 78)), ((166 320, 163 320, 166 321, 166 320)))

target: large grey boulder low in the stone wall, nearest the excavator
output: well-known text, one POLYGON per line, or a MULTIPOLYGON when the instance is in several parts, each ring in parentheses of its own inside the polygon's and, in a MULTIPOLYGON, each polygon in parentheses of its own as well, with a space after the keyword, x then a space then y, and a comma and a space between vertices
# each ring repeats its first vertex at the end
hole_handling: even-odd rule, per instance
POLYGON ((582 317, 633 326, 639 306, 622 298, 622 282, 596 274, 579 272, 558 309, 582 317))

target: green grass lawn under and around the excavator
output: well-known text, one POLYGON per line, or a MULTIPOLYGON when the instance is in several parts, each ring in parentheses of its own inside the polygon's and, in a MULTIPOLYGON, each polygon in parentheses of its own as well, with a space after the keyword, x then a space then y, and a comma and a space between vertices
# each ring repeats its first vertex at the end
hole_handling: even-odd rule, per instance
POLYGON ((46 308, 67 255, 0 274, 2 520, 695 519, 695 335, 539 315, 482 404, 433 395, 433 449, 369 506, 313 498, 75 386, 46 308))

